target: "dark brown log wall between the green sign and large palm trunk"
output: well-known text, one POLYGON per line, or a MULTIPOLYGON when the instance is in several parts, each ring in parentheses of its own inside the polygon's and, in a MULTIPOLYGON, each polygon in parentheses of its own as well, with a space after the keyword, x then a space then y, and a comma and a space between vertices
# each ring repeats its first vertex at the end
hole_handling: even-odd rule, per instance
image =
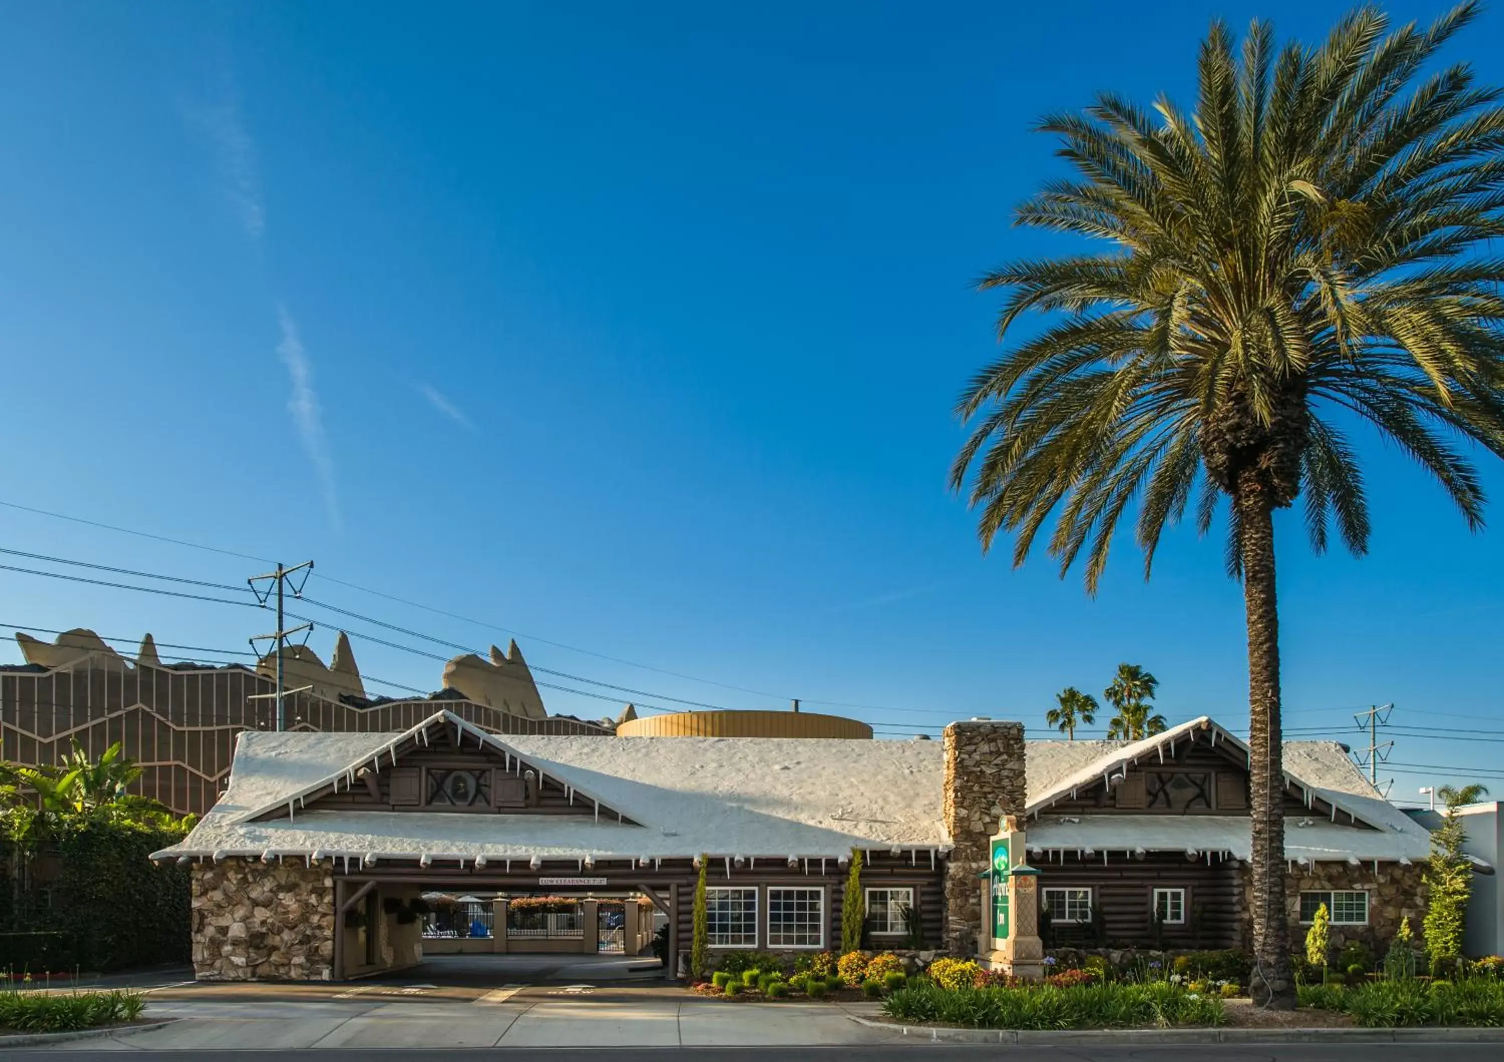
MULTIPOLYGON (((1154 889, 1185 889, 1185 925, 1166 925, 1164 943, 1173 948, 1236 948, 1242 939, 1242 871, 1233 859, 1149 852, 1143 859, 1110 853, 1107 864, 1068 852, 1047 853, 1030 865, 1039 870, 1044 889, 1089 888, 1104 919, 1107 945, 1148 945, 1154 931, 1154 889)), ((1051 924, 1054 942, 1089 943, 1090 925, 1051 924)))

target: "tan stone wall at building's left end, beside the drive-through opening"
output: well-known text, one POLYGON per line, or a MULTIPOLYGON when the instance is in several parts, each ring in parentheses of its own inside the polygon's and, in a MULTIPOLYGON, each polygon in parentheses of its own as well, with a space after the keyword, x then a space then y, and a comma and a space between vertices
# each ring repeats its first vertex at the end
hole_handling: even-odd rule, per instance
POLYGON ((328 867, 226 859, 193 868, 193 966, 200 981, 329 981, 328 867))

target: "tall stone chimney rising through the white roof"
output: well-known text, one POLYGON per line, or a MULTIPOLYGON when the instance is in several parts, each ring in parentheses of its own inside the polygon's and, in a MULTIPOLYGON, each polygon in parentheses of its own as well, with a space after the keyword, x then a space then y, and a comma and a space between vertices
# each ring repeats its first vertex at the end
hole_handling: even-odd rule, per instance
POLYGON ((1024 724, 952 723, 945 729, 946 948, 975 955, 985 924, 982 883, 991 864, 988 838, 1003 816, 1023 816, 1026 802, 1024 724))

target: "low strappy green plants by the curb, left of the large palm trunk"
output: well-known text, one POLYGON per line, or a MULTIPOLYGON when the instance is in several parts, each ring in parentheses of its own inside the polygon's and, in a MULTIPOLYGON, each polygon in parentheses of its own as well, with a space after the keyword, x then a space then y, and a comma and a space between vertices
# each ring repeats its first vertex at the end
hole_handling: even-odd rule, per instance
POLYGON ((920 979, 892 993, 883 1012, 898 1021, 969 1029, 1131 1029, 1218 1026, 1221 999, 1169 982, 1077 987, 948 988, 920 979))

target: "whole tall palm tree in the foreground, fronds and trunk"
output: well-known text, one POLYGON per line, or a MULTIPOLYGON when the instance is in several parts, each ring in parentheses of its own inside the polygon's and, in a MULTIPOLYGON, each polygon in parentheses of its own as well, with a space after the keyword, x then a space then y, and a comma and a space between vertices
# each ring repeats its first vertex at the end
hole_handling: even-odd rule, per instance
POLYGON ((1214 23, 1199 99, 1155 114, 1104 93, 1048 117, 1074 167, 1018 207, 1023 225, 1098 242, 982 279, 1011 342, 958 403, 952 467, 984 547, 1023 563, 1047 520, 1062 574, 1084 550, 1095 593, 1130 502, 1145 574, 1196 497, 1227 500, 1227 569, 1248 631, 1254 999, 1293 1006, 1280 796, 1274 511, 1302 502, 1313 548, 1354 554, 1369 508, 1349 431, 1412 457, 1483 523, 1457 442, 1504 455, 1504 107, 1466 65, 1420 78, 1478 12, 1390 30, 1375 8, 1316 48, 1254 23, 1235 53, 1214 23))

